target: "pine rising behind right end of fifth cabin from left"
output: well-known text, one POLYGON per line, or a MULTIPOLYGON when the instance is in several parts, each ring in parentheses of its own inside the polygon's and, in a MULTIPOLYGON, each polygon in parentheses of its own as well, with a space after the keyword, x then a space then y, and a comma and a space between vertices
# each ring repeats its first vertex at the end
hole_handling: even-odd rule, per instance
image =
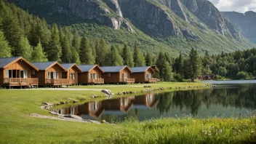
POLYGON ((132 52, 128 48, 127 44, 124 44, 122 57, 123 57, 124 65, 128 65, 130 68, 134 66, 132 52))

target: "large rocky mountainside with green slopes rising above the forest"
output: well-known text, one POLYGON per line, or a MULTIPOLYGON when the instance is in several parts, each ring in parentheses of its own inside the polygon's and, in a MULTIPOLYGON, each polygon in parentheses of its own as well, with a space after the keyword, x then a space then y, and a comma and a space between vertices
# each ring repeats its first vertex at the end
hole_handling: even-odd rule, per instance
POLYGON ((143 51, 212 54, 255 44, 207 0, 8 0, 48 23, 69 26, 111 44, 135 43, 143 51))

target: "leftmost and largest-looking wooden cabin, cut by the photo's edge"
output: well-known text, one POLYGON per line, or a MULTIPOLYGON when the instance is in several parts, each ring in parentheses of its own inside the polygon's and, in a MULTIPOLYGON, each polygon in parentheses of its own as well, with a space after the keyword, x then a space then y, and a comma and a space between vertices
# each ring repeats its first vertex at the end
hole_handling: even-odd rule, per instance
POLYGON ((39 69, 23 57, 0 58, 0 86, 37 87, 39 79, 33 77, 37 71, 39 69))

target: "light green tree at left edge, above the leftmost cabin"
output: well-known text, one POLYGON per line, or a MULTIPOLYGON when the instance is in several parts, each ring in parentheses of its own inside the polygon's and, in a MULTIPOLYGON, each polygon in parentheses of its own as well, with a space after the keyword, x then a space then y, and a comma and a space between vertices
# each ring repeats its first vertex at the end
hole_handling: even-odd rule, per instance
POLYGON ((11 50, 11 47, 9 47, 9 44, 5 39, 4 33, 0 31, 0 57, 10 57, 11 50))

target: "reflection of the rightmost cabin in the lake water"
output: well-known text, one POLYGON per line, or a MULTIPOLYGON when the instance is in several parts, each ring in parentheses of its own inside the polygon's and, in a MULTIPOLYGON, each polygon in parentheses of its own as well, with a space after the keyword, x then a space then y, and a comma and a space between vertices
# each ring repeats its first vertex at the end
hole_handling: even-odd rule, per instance
POLYGON ((144 108, 153 108, 159 103, 159 100, 156 99, 155 94, 148 93, 144 96, 135 97, 132 100, 133 108, 144 109, 144 108))

